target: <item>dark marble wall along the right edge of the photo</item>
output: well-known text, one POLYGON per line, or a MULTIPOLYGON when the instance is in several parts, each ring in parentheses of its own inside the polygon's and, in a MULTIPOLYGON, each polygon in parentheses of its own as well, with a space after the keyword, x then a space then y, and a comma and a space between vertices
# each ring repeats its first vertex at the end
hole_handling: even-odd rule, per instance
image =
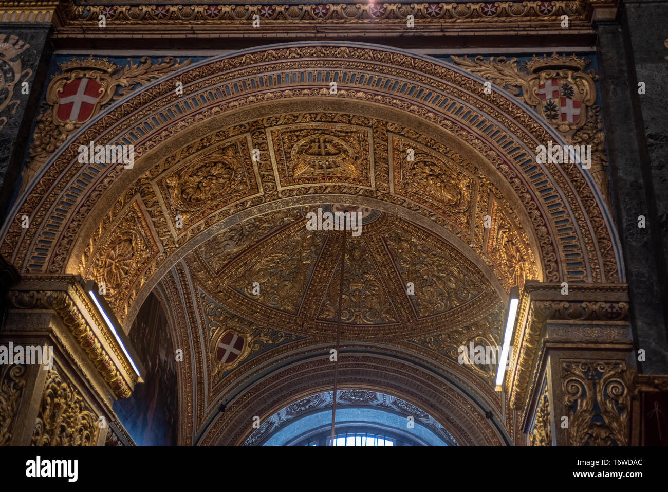
POLYGON ((622 5, 597 23, 597 54, 615 213, 641 370, 668 374, 668 2, 622 5), (645 94, 638 93, 645 82, 645 94), (639 215, 646 227, 639 227, 639 215))

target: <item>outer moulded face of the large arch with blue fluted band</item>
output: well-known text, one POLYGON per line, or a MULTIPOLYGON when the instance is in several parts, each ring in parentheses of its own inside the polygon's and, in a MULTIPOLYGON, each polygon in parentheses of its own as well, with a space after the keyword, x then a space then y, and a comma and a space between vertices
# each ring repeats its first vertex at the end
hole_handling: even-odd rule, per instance
MULTIPOLYGON (((351 100, 377 102, 417 114, 465 140, 492 162, 520 197, 523 208, 533 221, 540 245, 539 263, 545 270, 545 279, 603 281, 619 275, 605 215, 601 211, 601 204, 591 193, 582 171, 574 167, 550 168, 546 164, 544 172, 540 172, 537 178, 534 176, 534 180, 527 179, 524 172, 518 172, 517 162, 530 162, 536 143, 545 143, 546 139, 558 140, 532 117, 530 111, 526 111, 522 104, 501 92, 495 91, 490 96, 483 96, 480 82, 451 66, 367 45, 273 47, 212 59, 160 79, 148 85, 140 94, 111 106, 84 125, 69 145, 49 159, 43 172, 33 181, 31 189, 25 193, 16 208, 15 217, 28 215, 32 219, 33 227, 21 229, 18 219, 7 223, 3 254, 11 257, 13 263, 23 271, 56 272, 75 269, 73 265, 76 265, 77 261, 71 257, 71 250, 84 219, 90 219, 88 215, 102 197, 105 197, 104 201, 108 201, 110 197, 105 195, 106 190, 115 182, 127 182, 131 179, 130 174, 121 176, 124 172, 122 166, 100 169, 98 177, 92 180, 83 176, 81 173, 84 169, 76 160, 79 144, 88 143, 92 139, 98 144, 131 142, 135 145, 139 158, 133 172, 145 173, 150 164, 142 164, 142 156, 148 157, 152 150, 156 150, 156 144, 168 140, 179 130, 198 121, 224 114, 227 110, 267 101, 297 96, 321 96, 330 99, 326 87, 301 88, 304 84, 299 78, 301 74, 306 74, 307 78, 310 76, 312 80, 324 81, 324 85, 333 71, 345 73, 350 76, 347 80, 353 81, 339 84, 339 91, 334 98, 341 98, 348 103, 351 100), (261 62, 265 64, 260 67, 258 64, 261 62), (290 76, 277 75, 288 73, 290 76), (362 74, 366 74, 364 79, 361 78, 362 74), (373 88, 364 83, 370 80, 369 74, 373 74, 373 80, 377 81, 373 88), (275 81, 273 90, 251 90, 251 86, 259 86, 251 84, 251 78, 259 80, 267 77, 275 81), (184 106, 184 101, 180 100, 182 98, 174 94, 176 78, 184 83, 188 97, 193 94, 188 106, 184 106), (411 84, 422 84, 422 87, 416 86, 409 90, 411 84), (232 92, 236 91, 236 99, 231 102, 224 101, 231 99, 226 96, 230 88, 232 92), (194 94, 200 90, 202 94, 196 100, 194 94), (241 92, 254 94, 240 96, 241 92), (406 93, 415 96, 407 96, 406 93), (195 104, 197 101, 200 102, 195 104), (180 110, 168 111, 175 109, 174 105, 180 105, 180 110), (170 120, 170 114, 179 116, 170 120), (168 122, 156 124, 156 115, 168 122), (520 125, 519 122, 523 123, 520 125), (143 124, 142 128, 146 130, 142 136, 136 130, 139 124, 143 124), (552 203, 549 214, 546 212, 545 201, 538 199, 541 195, 536 186, 536 181, 544 180, 544 176, 552 180, 550 184, 554 184, 554 189, 561 192, 561 197, 550 198, 552 203), (64 196, 67 192, 71 195, 71 188, 66 187, 72 180, 76 180, 79 186, 83 187, 80 196, 75 197, 76 200, 65 199, 64 196), (71 203, 72 201, 74 203, 71 203), (560 213, 560 221, 566 221, 566 225, 576 231, 572 237, 556 241, 559 234, 554 226, 555 208, 560 213), (556 245, 562 250, 556 251, 556 245), (576 247, 572 248, 572 245, 576 247), (565 246, 568 246, 568 253, 563 250, 565 246), (579 264, 578 261, 570 261, 576 266, 569 267, 562 261, 566 254, 579 254, 578 259, 581 261, 579 264)), ((309 84, 315 85, 313 82, 309 84)), ((267 84, 265 87, 268 86, 267 84)), ((239 152, 243 151, 238 142, 237 149, 239 152)), ((236 157, 248 156, 241 154, 236 157)), ((256 191, 259 191, 263 176, 258 176, 259 169, 255 174, 256 191)), ((246 177, 252 180, 253 174, 248 173, 246 177)), ((248 186, 252 186, 252 183, 248 186)), ((361 186, 358 184, 355 193, 359 193, 359 187, 361 186)), ((267 194, 264 189, 263 192, 267 194)), ((109 216, 110 221, 123 222, 134 232, 114 237, 106 247, 114 249, 115 254, 127 255, 128 251, 140 251, 140 261, 132 267, 135 268, 136 275, 141 274, 140 283, 144 283, 156 270, 156 263, 164 263, 169 255, 168 249, 162 244, 162 239, 168 235, 168 218, 160 219, 166 229, 156 228, 149 216, 157 204, 147 205, 134 200, 131 206, 133 198, 139 196, 136 190, 132 190, 132 193, 128 190, 110 211, 109 216), (118 210, 119 205, 121 210, 118 210), (123 217, 118 216, 120 211, 124 213, 123 217)), ((235 207, 238 209, 240 203, 252 206, 258 201, 261 201, 260 197, 246 195, 240 197, 236 203, 225 205, 228 209, 224 213, 220 214, 219 211, 215 216, 202 219, 196 227, 190 227, 187 239, 206 229, 207 224, 219 222, 224 215, 230 215, 235 207)), ((102 225, 100 227, 102 228, 102 225)), ((103 232, 100 231, 100 235, 103 232)), ((132 294, 128 299, 131 298, 132 294)), ((120 318, 124 318, 122 313, 120 318)))

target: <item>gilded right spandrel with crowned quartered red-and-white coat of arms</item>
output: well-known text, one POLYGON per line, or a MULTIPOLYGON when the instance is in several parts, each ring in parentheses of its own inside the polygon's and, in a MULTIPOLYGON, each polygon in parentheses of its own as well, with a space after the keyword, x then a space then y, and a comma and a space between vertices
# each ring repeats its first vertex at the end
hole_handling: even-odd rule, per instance
POLYGON ((550 57, 534 55, 521 66, 516 58, 506 57, 452 56, 452 60, 524 100, 572 144, 591 145, 590 172, 609 199, 601 109, 595 106, 598 76, 594 70, 585 73, 588 59, 556 53, 550 57))

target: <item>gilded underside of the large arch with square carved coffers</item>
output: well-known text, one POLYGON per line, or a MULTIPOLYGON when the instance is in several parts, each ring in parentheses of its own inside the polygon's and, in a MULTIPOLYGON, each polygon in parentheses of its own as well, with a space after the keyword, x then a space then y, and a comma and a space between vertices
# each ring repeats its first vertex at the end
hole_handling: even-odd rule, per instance
MULTIPOLYGON (((337 139, 335 136, 332 138, 337 139)), ((336 144, 336 142, 331 143, 336 144)), ((281 143, 275 140, 273 145, 278 148, 281 143)), ((342 155, 345 156, 345 152, 342 155)), ((295 160, 295 162, 300 161, 295 160)), ((226 130, 218 130, 214 134, 204 135, 166 158, 158 160, 148 174, 142 176, 142 179, 132 187, 128 187, 125 197, 132 197, 130 203, 135 205, 128 207, 121 200, 114 208, 120 210, 118 217, 125 217, 124 213, 135 213, 134 211, 142 205, 153 214, 157 213, 160 218, 168 217, 167 225, 172 227, 164 234, 158 231, 161 238, 166 238, 162 240, 166 254, 173 253, 177 248, 187 253, 192 247, 211 237, 216 229, 234 227, 239 221, 235 217, 252 215, 253 209, 246 207, 248 201, 263 201, 263 207, 279 210, 299 203, 327 203, 327 191, 329 191, 337 194, 332 195, 333 201, 343 197, 346 203, 364 204, 374 209, 389 208, 389 211, 399 216, 412 214, 417 217, 418 222, 422 222, 423 227, 426 225, 431 229, 442 230, 440 235, 448 237, 450 242, 456 245, 456 249, 468 251, 468 259, 478 264, 484 271, 484 276, 493 279, 494 288, 503 296, 502 292, 507 292, 514 284, 522 285, 525 278, 540 278, 540 273, 534 264, 536 255, 534 251, 537 248, 532 248, 526 231, 520 225, 522 221, 512 211, 517 207, 516 203, 511 204, 506 201, 504 194, 494 187, 486 178, 486 172, 480 171, 480 167, 484 168, 470 164, 448 146, 409 128, 369 117, 333 112, 307 112, 246 122, 226 130), (274 119, 280 120, 281 124, 277 124, 274 119), (369 126, 373 128, 373 132, 369 126), (407 136, 414 134, 415 140, 391 133, 390 130, 407 136), (339 170, 338 176, 335 172, 329 176, 318 176, 318 172, 306 170, 302 173, 307 174, 303 178, 306 182, 297 185, 292 184, 294 179, 291 176, 294 170, 284 169, 283 171, 291 176, 279 176, 276 180, 275 176, 281 174, 281 170, 277 169, 279 164, 283 167, 287 165, 282 156, 290 152, 291 148, 288 150, 279 148, 280 152, 274 152, 275 149, 271 148, 268 151, 271 154, 271 162, 260 162, 257 167, 251 165, 249 157, 251 149, 255 147, 264 152, 268 146, 265 136, 281 132, 286 134, 287 140, 295 138, 299 142, 305 140, 319 142, 323 140, 325 134, 329 136, 338 134, 350 138, 351 144, 359 143, 355 138, 361 139, 365 146, 374 149, 370 158, 355 164, 359 167, 360 176, 366 176, 367 183, 355 183, 355 180, 360 179, 355 175, 357 171, 345 168, 339 170), (248 142, 248 134, 252 135, 251 142, 248 142), (367 136, 369 138, 365 140, 367 136), (418 139, 422 140, 422 143, 418 139), (415 148, 413 162, 418 166, 409 166, 409 162, 403 158, 399 162, 393 162, 391 150, 387 151, 388 142, 397 149, 394 155, 403 155, 398 152, 401 145, 404 148, 408 145, 415 148), (281 159, 283 162, 278 162, 281 159), (363 169, 364 166, 366 170, 363 169), (200 186, 212 169, 216 169, 220 174, 220 178, 226 183, 225 187, 229 184, 229 189, 216 188, 216 184, 212 187, 200 186), (309 172, 313 176, 308 176, 309 172), (393 183, 388 186, 389 172, 395 177, 392 179, 393 183), (436 180, 434 173, 438 174, 436 180), (257 175, 271 177, 258 185, 257 175), (385 193, 378 187, 373 189, 371 182, 374 176, 378 180, 379 187, 385 186, 385 193), (288 184, 281 188, 281 184, 285 184, 281 181, 284 178, 288 180, 288 184), (392 185, 395 187, 395 193, 387 193, 392 185), (259 187, 265 189, 265 194, 261 197, 257 193, 259 187), (211 194, 215 194, 215 197, 210 197, 211 194), (188 203, 184 202, 184 195, 188 197, 188 203), (231 213, 218 215, 229 222, 216 223, 193 237, 192 226, 201 224, 202 218, 218 210, 221 203, 224 205, 232 201, 240 203, 239 208, 243 213, 232 217, 231 213), (141 205, 138 206, 137 203, 141 205), (174 227, 177 215, 180 215, 183 221, 184 227, 181 229, 174 227), (480 227, 484 215, 490 216, 488 230, 480 227), (182 247, 186 243, 189 247, 182 247)), ((262 207, 257 208, 262 209, 262 207)), ((135 217, 137 216, 140 215, 136 213, 135 217)), ((153 223, 156 224, 158 221, 153 223)), ((92 239, 86 245, 88 249, 83 251, 83 261, 78 265, 78 271, 83 275, 92 276, 108 284, 108 297, 114 299, 112 301, 114 307, 127 304, 128 297, 123 294, 130 292, 128 286, 132 285, 132 279, 137 276, 130 267, 132 263, 130 261, 124 268, 110 271, 110 265, 114 266, 110 263, 110 259, 118 257, 120 241, 118 231, 126 227, 120 222, 116 224, 110 215, 102 221, 102 226, 96 231, 99 235, 92 235, 92 239), (121 283, 121 279, 124 283, 121 283), (117 295, 118 292, 121 294, 117 295)), ((303 224, 302 229, 305 230, 303 224)), ((149 236, 146 234, 143 237, 149 236)), ((122 235, 121 239, 124 238, 122 235)), ((536 240, 534 239, 532 243, 536 244, 536 240)), ((125 241, 125 244, 130 245, 132 241, 125 241)), ((144 248, 144 251, 146 250, 148 248, 144 248)), ((124 254, 126 258, 132 257, 135 261, 144 258, 140 255, 140 251, 133 251, 130 247, 124 254)), ((143 286, 137 284, 135 293, 138 292, 137 287, 143 286)), ((132 299, 134 298, 133 295, 132 299)))

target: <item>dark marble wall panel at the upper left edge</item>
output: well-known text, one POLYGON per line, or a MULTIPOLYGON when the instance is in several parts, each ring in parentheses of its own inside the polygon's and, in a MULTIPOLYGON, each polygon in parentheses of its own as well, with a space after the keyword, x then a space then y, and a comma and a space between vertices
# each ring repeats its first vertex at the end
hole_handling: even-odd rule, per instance
MULTIPOLYGON (((14 199, 16 192, 15 184, 20 176, 21 165, 27 142, 30 140, 29 132, 35 115, 37 105, 43 91, 46 72, 51 59, 51 41, 49 34, 51 23, 0 23, 0 35, 4 35, 0 43, 0 106, 7 98, 12 98, 19 104, 8 104, 1 110, 0 118, 7 118, 2 130, 0 130, 0 217, 5 220, 9 204, 14 199), (12 36, 19 41, 29 45, 21 53, 12 56, 11 47, 7 45, 12 36), (13 63, 16 59, 21 60, 21 72, 14 74, 13 63), (25 72, 29 70, 30 72, 25 72), (9 94, 9 84, 14 78, 19 78, 9 94), (21 93, 21 83, 27 81, 29 94, 21 93)), ((16 44, 16 43, 15 43, 16 44)))

